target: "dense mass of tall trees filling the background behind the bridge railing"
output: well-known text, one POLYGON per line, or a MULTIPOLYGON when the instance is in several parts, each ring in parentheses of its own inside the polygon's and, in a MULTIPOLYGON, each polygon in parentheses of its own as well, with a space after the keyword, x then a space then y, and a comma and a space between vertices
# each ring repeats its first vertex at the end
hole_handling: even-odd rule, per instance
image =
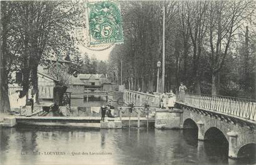
POLYGON ((122 1, 125 40, 109 57, 113 82, 121 81, 122 60, 126 88, 155 91, 163 7, 165 90, 185 82, 190 92, 255 98, 241 94, 255 90, 255 1, 122 1))

